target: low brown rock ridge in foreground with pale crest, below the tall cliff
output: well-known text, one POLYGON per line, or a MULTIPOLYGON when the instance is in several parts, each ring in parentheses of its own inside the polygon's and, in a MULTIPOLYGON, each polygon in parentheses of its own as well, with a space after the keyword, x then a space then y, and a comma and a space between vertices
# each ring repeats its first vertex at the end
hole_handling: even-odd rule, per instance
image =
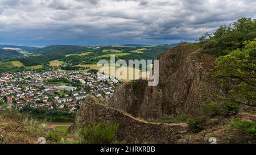
POLYGON ((77 114, 73 129, 100 122, 118 124, 117 139, 126 143, 177 143, 187 124, 148 123, 126 112, 100 104, 95 97, 87 97, 77 114))

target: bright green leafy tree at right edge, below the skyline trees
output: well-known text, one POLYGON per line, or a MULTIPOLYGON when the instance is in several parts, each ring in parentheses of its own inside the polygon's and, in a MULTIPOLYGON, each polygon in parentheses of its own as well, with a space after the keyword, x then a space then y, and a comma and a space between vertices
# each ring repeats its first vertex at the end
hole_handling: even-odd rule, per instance
POLYGON ((229 100, 256 106, 256 39, 243 45, 244 48, 217 59, 216 76, 222 79, 229 100))

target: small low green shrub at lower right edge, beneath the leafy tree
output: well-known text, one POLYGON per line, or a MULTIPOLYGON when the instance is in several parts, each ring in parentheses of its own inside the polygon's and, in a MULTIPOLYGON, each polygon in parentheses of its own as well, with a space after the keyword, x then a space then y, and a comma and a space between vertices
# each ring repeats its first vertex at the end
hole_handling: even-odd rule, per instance
POLYGON ((231 127, 239 129, 243 134, 256 136, 256 120, 253 122, 232 120, 231 127))

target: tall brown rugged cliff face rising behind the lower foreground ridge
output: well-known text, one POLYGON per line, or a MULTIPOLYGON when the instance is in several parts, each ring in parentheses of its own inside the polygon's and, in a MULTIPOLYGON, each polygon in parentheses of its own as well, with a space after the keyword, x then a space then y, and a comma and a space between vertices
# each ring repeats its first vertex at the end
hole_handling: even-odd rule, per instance
POLYGON ((197 115, 201 103, 220 94, 218 81, 210 76, 215 58, 201 53, 196 45, 174 47, 158 57, 159 85, 140 81, 117 87, 109 105, 143 119, 163 114, 197 115))

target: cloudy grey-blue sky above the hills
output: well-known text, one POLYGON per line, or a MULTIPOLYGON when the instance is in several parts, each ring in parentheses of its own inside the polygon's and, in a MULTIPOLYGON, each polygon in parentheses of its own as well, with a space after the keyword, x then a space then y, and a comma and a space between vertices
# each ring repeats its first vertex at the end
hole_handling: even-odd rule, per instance
POLYGON ((0 44, 120 45, 196 41, 255 0, 0 0, 0 44))

